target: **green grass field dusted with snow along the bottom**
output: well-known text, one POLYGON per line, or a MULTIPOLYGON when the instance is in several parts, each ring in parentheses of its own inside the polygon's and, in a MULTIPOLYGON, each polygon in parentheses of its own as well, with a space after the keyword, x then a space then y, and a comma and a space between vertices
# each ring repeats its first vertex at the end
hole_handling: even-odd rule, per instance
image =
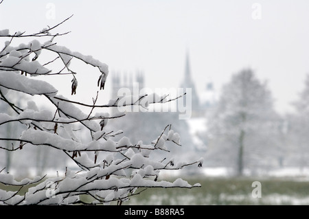
MULTIPOLYGON (((131 196, 123 205, 309 205, 309 181, 302 178, 182 178, 192 185, 201 183, 202 186, 192 189, 150 188, 131 196), (262 185, 261 198, 252 196, 253 181, 262 185)), ((165 180, 173 181, 173 178, 165 180)), ((18 188, 0 184, 0 189, 16 191, 18 188)), ((21 193, 26 190, 27 187, 23 188, 21 193)))

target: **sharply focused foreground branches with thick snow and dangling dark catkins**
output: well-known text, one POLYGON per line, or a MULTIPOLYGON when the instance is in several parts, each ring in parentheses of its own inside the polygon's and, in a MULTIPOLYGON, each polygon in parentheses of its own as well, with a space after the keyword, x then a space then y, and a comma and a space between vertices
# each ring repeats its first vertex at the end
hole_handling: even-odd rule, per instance
POLYGON ((65 21, 34 34, 0 31, 0 38, 8 39, 0 50, 0 97, 1 102, 14 112, 13 115, 1 112, 0 126, 13 122, 19 122, 23 126, 21 135, 11 132, 10 136, 1 136, 0 149, 14 152, 23 151, 30 146, 53 148, 71 159, 78 170, 63 167, 63 175, 36 176, 18 181, 3 168, 0 170, 0 183, 18 186, 20 189, 24 185, 35 185, 27 189, 25 194, 0 189, 0 204, 98 205, 113 201, 121 204, 130 196, 139 194, 137 188, 200 187, 198 183, 190 185, 181 178, 174 182, 158 180, 161 170, 179 170, 193 164, 201 167, 203 162, 203 159, 185 163, 164 157, 159 160, 152 158, 154 151, 169 152, 167 142, 178 147, 180 137, 171 129, 171 125, 163 127, 158 137, 149 143, 139 141, 133 144, 126 136, 117 141, 113 140, 114 137, 123 135, 123 132, 110 130, 108 120, 123 117, 125 114, 109 115, 103 109, 132 105, 146 108, 148 104, 172 100, 166 98, 168 95, 157 97, 153 94, 117 97, 108 104, 98 104, 99 93, 103 92, 108 78, 108 66, 92 56, 84 56, 56 43, 58 37, 68 33, 52 32, 65 21), (29 43, 13 45, 14 41, 24 39, 29 39, 29 43), (45 41, 42 42, 42 39, 45 41), (71 95, 78 93, 79 72, 73 70, 74 60, 92 66, 93 73, 98 74, 98 80, 94 82, 82 81, 98 85, 97 95, 92 98, 91 104, 60 95, 58 90, 45 80, 47 77, 71 76, 71 82, 68 82, 71 95), (54 69, 54 66, 58 65, 61 67, 54 69), (8 97, 11 90, 25 93, 29 97, 30 101, 25 107, 19 106, 8 97), (37 106, 35 97, 41 97, 48 107, 41 109, 37 106), (124 101, 124 98, 127 101, 124 101), (120 102, 122 104, 119 104, 120 102), (87 108, 88 113, 84 113, 80 107, 87 108), (88 135, 86 138, 83 137, 85 130, 88 135), (10 148, 5 146, 6 141, 13 142, 10 148), (90 196, 92 200, 84 203, 80 200, 80 195, 90 196))

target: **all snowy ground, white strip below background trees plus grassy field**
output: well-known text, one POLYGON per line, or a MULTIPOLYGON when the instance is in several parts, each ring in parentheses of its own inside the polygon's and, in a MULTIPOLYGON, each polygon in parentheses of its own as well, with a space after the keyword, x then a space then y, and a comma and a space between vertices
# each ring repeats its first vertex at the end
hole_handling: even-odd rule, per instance
MULTIPOLYGON (((34 169, 30 170, 29 173, 32 177, 36 176, 34 169)), ((57 173, 59 176, 64 175, 64 172, 60 170, 47 171, 49 176, 55 176, 57 173)), ((251 191, 253 187, 251 187, 250 177, 247 178, 248 185, 245 184, 244 186, 244 184, 238 184, 242 180, 238 181, 237 178, 229 181, 229 176, 231 176, 231 170, 227 168, 201 168, 198 174, 192 176, 185 175, 182 170, 164 170, 161 171, 160 181, 170 181, 170 178, 179 177, 188 181, 193 178, 198 183, 203 182, 203 180, 210 180, 216 184, 218 182, 222 183, 220 178, 227 178, 226 181, 223 180, 227 184, 221 185, 224 188, 219 189, 217 192, 214 192, 214 188, 209 187, 211 183, 206 185, 202 183, 202 187, 196 189, 158 189, 146 196, 142 193, 142 196, 131 198, 126 205, 309 205, 309 195, 306 192, 301 192, 302 190, 298 191, 298 187, 295 187, 295 183, 304 184, 304 182, 309 181, 309 168, 303 170, 299 168, 282 168, 264 172, 264 174, 261 173, 259 176, 252 176, 252 181, 260 178, 264 182, 264 180, 270 179, 268 180, 269 185, 269 181, 275 179, 272 185, 282 186, 282 189, 278 192, 276 189, 266 189, 267 184, 262 183, 262 198, 252 197, 251 191), (219 180, 216 180, 216 178, 219 180), (284 187, 287 185, 286 183, 280 184, 280 182, 287 181, 290 182, 291 187, 284 187), (231 185, 228 183, 231 183, 231 185), (291 188, 297 189, 294 191, 291 188), (198 189, 201 189, 201 191, 198 189), (268 191, 266 192, 266 190, 268 191)), ((218 187, 218 185, 214 185, 214 187, 218 187)), ((304 189, 304 185, 302 187, 304 189)))

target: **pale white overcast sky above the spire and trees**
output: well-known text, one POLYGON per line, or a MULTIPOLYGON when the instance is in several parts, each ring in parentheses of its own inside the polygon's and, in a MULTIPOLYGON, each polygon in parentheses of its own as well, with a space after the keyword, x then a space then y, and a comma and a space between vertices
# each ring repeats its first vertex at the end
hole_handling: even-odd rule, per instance
MULTIPOLYGON (((74 14, 57 29, 71 31, 59 37, 58 44, 105 62, 111 74, 141 69, 150 89, 179 87, 188 50, 199 92, 209 78, 220 90, 231 73, 251 67, 268 81, 275 106, 284 113, 291 110, 290 102, 297 99, 309 73, 308 9, 308 0, 4 0, 0 30, 30 34, 74 14), (260 19, 252 17, 258 10, 254 3, 261 6, 260 19)), ((0 43, 2 47, 3 39, 0 43)), ((80 71, 93 71, 84 79, 93 76, 95 87, 98 71, 80 71)), ((70 79, 60 80, 67 89, 63 95, 70 95, 70 79)), ((86 93, 83 83, 79 80, 79 95, 86 93)), ((108 97, 110 87, 108 82, 108 97)), ((85 95, 87 101, 94 95, 85 95)))

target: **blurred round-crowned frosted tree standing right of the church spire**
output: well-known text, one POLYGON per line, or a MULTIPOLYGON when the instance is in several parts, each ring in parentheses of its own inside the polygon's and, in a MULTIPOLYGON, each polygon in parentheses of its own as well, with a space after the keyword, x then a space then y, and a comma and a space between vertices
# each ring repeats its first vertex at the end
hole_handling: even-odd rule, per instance
POLYGON ((244 173, 244 163, 254 159, 262 163, 264 160, 255 155, 262 152, 266 158, 263 139, 271 134, 270 130, 275 130, 275 117, 273 99, 266 84, 255 78, 251 69, 234 74, 207 118, 211 148, 220 151, 216 159, 221 157, 226 165, 235 166, 239 175, 244 173), (231 163, 233 161, 237 162, 231 163))

